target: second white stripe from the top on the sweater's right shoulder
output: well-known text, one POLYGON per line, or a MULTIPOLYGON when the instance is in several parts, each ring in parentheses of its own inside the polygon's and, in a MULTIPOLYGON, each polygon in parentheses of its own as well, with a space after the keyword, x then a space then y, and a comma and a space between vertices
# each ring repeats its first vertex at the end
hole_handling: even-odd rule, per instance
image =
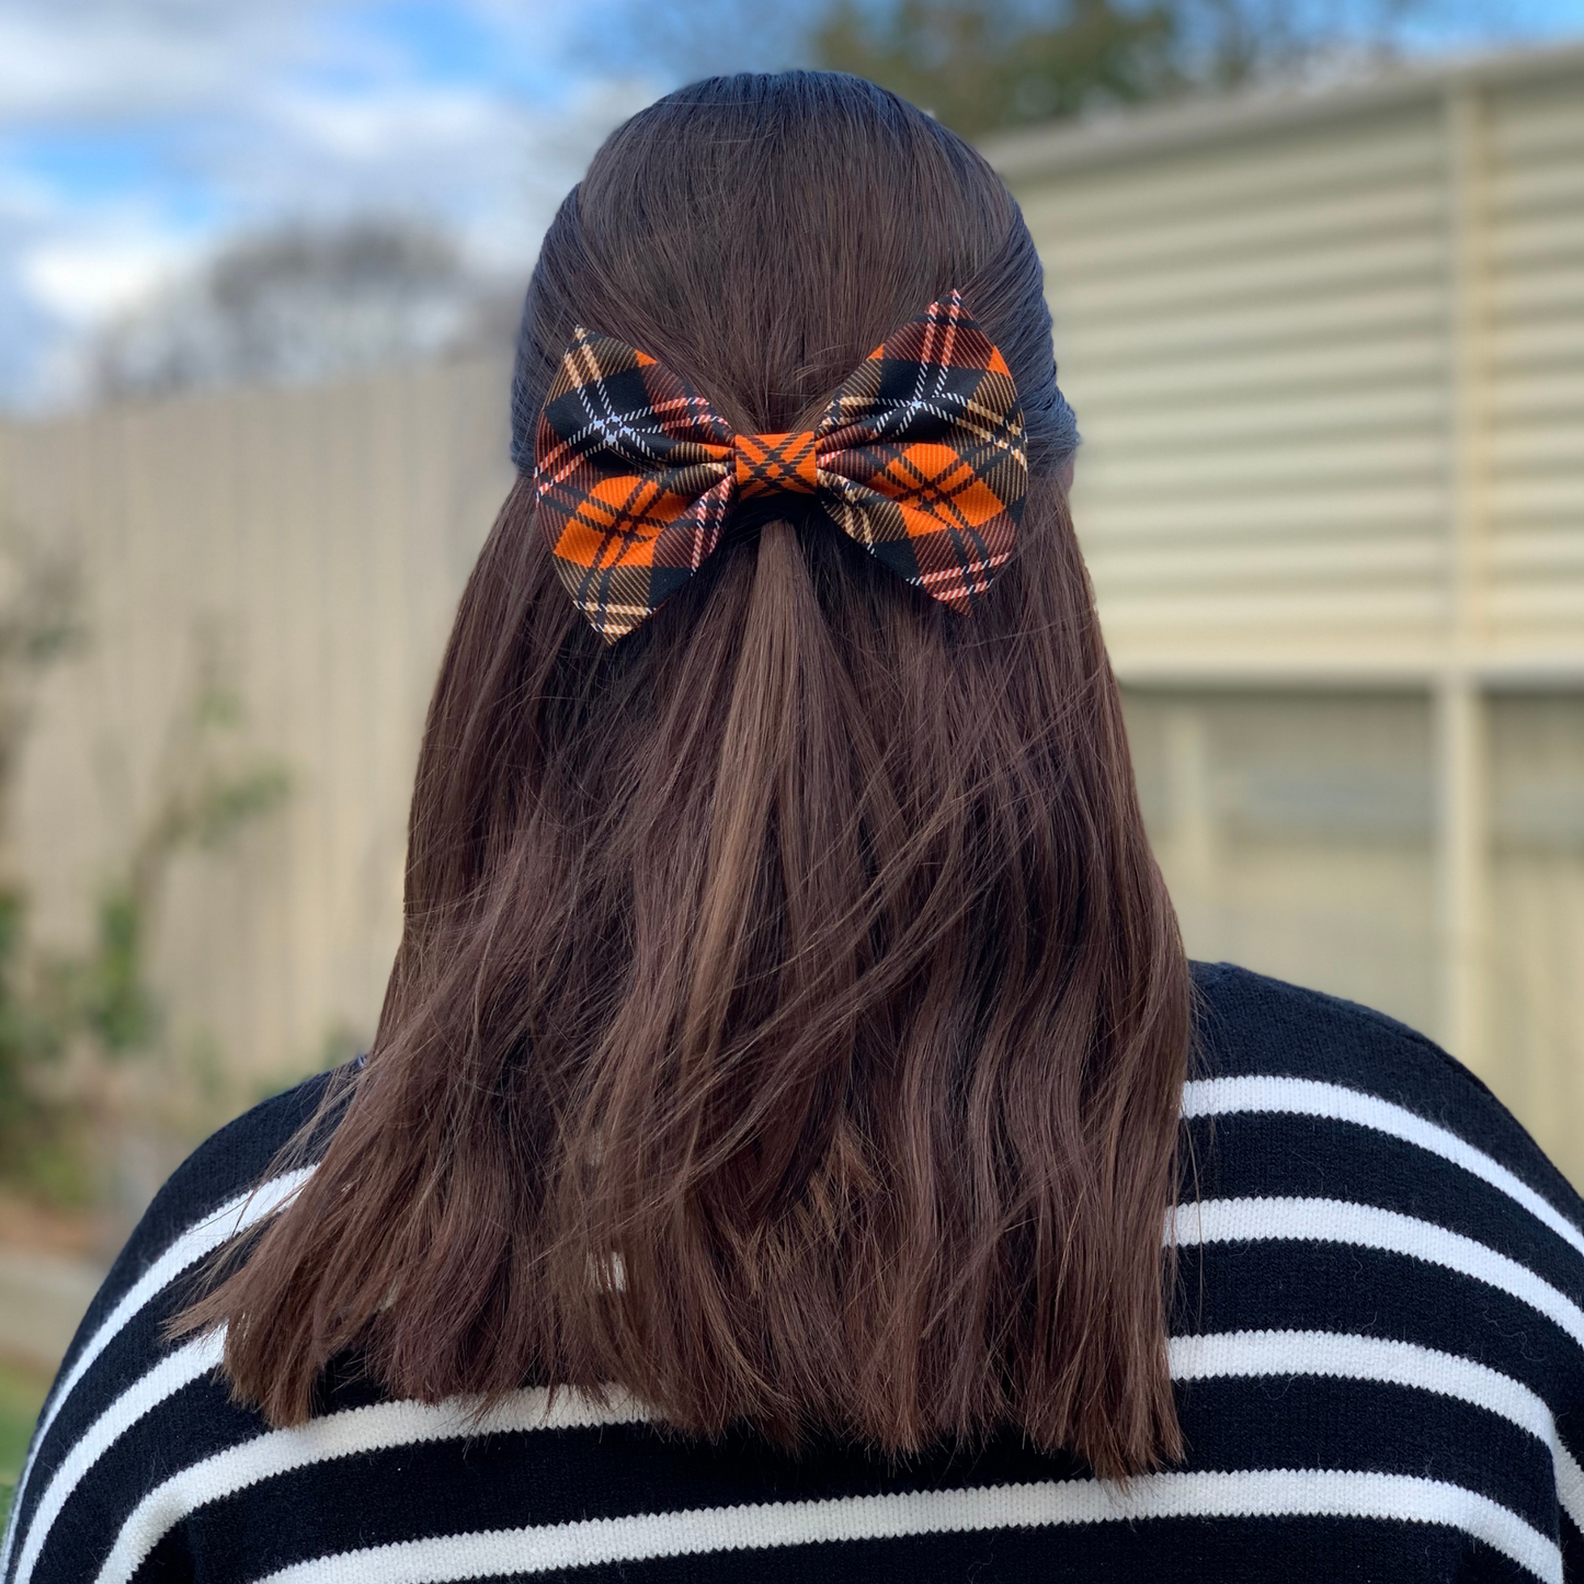
POLYGON ((1166 1236, 1180 1245, 1297 1240, 1408 1255, 1516 1297, 1584 1346, 1584 1310, 1549 1281, 1462 1232, 1399 1210, 1351 1199, 1202 1199, 1177 1205, 1166 1236))

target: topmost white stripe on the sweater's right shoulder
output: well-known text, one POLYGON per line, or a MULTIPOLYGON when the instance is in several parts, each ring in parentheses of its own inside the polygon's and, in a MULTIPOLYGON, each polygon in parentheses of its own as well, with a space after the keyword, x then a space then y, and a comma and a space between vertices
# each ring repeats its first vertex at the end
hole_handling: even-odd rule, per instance
POLYGON ((1584 1232, 1579 1231, 1549 1199, 1543 1199, 1521 1177, 1476 1150, 1446 1128, 1426 1121, 1416 1112, 1378 1095, 1319 1083, 1315 1079, 1286 1079, 1266 1074, 1237 1079, 1191 1079, 1183 1085, 1183 1117, 1224 1117, 1232 1112, 1283 1112, 1297 1117, 1323 1117, 1327 1121, 1351 1121, 1375 1133, 1391 1134, 1430 1155, 1460 1166, 1472 1177, 1487 1182, 1521 1204, 1536 1221, 1584 1255, 1584 1232))

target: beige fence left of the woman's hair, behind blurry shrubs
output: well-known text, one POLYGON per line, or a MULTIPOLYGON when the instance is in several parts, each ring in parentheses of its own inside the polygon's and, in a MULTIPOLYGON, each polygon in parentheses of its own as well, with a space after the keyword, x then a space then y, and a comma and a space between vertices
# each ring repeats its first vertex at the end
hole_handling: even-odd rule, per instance
POLYGON ((236 852, 177 860, 158 974, 173 1042, 260 1087, 372 1033, 423 711, 512 477, 507 380, 455 363, 0 429, 0 512, 87 577, 87 649, 46 683, 17 795, 36 930, 89 928, 219 648, 291 792, 236 852))

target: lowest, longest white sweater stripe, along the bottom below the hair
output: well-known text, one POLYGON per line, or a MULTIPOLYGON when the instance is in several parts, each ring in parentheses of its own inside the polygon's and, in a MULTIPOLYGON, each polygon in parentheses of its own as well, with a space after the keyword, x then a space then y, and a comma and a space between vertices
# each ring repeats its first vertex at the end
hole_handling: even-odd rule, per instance
POLYGON ((1041 1481, 594 1517, 344 1551, 282 1568, 260 1584, 440 1584, 771 1546, 1159 1517, 1440 1524, 1473 1535, 1546 1584, 1562 1584, 1562 1552, 1555 1541, 1487 1497, 1418 1475, 1329 1468, 1142 1475, 1125 1486, 1096 1479, 1041 1481))

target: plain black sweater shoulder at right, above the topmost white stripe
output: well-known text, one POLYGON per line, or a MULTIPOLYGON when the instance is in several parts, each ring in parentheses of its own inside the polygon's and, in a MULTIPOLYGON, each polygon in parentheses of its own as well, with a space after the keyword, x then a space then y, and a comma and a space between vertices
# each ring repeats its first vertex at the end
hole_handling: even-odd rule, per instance
POLYGON ((1489 1087, 1373 1007, 1232 963, 1194 963, 1194 1079, 1283 1077, 1372 1095, 1481 1150, 1584 1226, 1584 1199, 1489 1087))

